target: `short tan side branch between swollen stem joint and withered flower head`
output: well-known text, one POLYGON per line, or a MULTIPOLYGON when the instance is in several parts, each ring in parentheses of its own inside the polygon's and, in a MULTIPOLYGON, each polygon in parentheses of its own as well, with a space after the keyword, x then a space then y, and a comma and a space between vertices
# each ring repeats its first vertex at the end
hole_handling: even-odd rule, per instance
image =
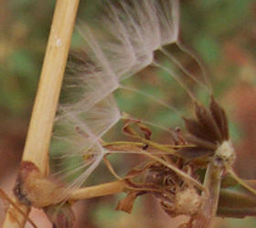
POLYGON ((113 181, 108 183, 102 183, 96 186, 81 188, 75 190, 70 194, 70 201, 78 201, 84 199, 90 199, 93 197, 99 197, 104 195, 112 195, 123 192, 126 184, 125 181, 113 181))

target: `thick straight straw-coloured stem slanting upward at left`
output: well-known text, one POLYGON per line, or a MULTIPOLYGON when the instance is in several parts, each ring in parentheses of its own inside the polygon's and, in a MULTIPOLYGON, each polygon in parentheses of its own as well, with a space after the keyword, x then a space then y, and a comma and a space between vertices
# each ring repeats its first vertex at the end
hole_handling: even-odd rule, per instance
MULTIPOLYGON (((58 105, 59 91, 79 2, 79 0, 58 0, 56 3, 22 158, 22 161, 33 162, 45 175, 48 174, 48 146, 52 124, 58 105)), ((23 206, 22 208, 25 213, 29 212, 28 207, 23 206)), ((25 225, 26 219, 22 214, 16 214, 18 216, 16 220, 12 218, 11 214, 11 208, 9 208, 4 228, 20 228, 25 225)))

